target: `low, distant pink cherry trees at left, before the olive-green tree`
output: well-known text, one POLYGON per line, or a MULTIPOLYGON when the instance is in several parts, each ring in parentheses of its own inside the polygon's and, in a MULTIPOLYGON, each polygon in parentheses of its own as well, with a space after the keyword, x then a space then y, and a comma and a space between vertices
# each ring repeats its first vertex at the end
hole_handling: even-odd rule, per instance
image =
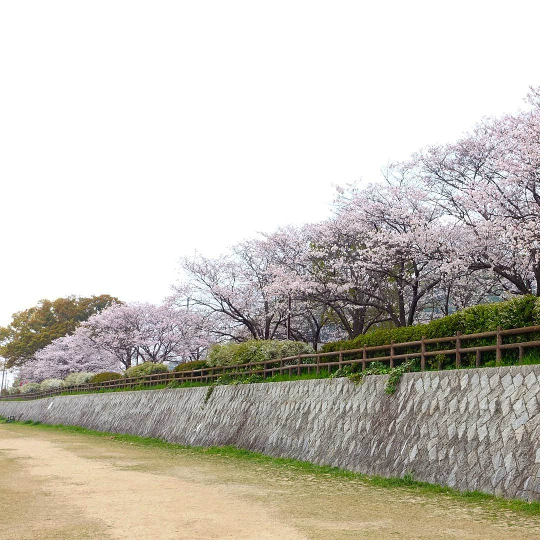
POLYGON ((210 334, 200 323, 195 313, 167 304, 114 303, 72 334, 39 349, 22 366, 21 380, 118 372, 141 362, 197 360, 210 345, 210 334))

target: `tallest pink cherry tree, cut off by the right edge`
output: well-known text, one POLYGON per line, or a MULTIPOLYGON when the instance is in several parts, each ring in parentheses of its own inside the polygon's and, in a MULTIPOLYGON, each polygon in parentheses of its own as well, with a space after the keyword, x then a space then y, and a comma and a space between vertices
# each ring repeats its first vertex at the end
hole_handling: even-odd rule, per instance
POLYGON ((400 165, 466 226, 469 268, 489 269, 510 294, 540 294, 539 95, 531 90, 527 110, 486 119, 400 165))

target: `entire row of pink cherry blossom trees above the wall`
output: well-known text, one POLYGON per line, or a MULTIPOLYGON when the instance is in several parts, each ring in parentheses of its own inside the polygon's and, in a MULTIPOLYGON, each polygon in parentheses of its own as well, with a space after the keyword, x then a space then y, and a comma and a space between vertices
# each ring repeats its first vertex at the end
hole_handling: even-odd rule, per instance
POLYGON ((185 279, 164 305, 105 299, 24 354, 11 340, 9 362, 39 380, 198 359, 226 340, 315 345, 538 295, 539 175, 536 89, 526 109, 392 164, 382 183, 339 188, 323 222, 261 234, 222 257, 185 258, 185 279))

